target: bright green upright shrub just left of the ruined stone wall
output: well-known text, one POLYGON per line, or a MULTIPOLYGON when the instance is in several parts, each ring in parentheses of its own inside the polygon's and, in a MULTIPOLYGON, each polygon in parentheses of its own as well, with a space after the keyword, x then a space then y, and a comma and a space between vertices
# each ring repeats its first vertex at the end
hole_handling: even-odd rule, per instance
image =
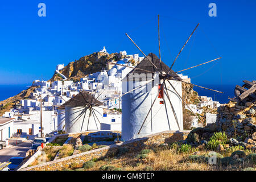
POLYGON ((216 150, 219 144, 225 146, 226 142, 228 142, 228 137, 226 136, 225 132, 217 132, 210 137, 210 140, 207 143, 207 148, 210 150, 216 150))

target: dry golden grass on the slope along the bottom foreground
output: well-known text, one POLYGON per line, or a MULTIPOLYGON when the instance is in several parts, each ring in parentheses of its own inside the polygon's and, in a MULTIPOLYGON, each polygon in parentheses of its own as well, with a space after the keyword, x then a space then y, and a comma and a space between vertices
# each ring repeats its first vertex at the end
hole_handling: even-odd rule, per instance
MULTIPOLYGON (((199 155, 207 155, 209 151, 199 151, 199 155)), ((114 157, 104 160, 98 160, 96 166, 87 170, 97 171, 101 166, 114 166, 122 168, 124 171, 143 171, 150 167, 154 171, 225 171, 241 170, 245 167, 255 167, 251 165, 238 166, 238 168, 222 167, 219 165, 210 165, 208 163, 195 163, 188 161, 188 156, 193 152, 178 153, 175 149, 151 151, 146 159, 137 159, 138 153, 129 152, 121 157, 114 157)))

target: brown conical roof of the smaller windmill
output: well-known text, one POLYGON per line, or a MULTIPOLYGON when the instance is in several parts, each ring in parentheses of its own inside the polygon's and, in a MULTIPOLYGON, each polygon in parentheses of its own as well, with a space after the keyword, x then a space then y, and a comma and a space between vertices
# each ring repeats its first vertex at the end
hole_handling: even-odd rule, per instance
POLYGON ((94 98, 92 94, 89 94, 86 91, 81 91, 75 97, 71 98, 63 105, 59 106, 58 109, 65 109, 65 106, 79 107, 88 106, 90 104, 94 104, 95 106, 103 105, 102 102, 96 100, 96 98, 94 98))

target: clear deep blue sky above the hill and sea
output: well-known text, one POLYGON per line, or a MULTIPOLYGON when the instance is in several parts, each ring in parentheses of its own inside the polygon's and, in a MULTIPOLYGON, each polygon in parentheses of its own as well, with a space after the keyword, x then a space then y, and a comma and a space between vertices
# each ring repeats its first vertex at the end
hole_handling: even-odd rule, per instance
MULTIPOLYGON (((256 1, 5 1, 0 4, 0 84, 48 80, 56 64, 99 51, 139 53, 127 32, 148 54, 158 53, 160 14, 162 60, 177 59, 179 71, 217 57, 220 61, 183 72, 198 85, 255 80, 256 1), (38 4, 46 4, 46 17, 38 4), (210 17, 209 3, 217 5, 210 17)), ((142 54, 140 53, 140 56, 142 54)))

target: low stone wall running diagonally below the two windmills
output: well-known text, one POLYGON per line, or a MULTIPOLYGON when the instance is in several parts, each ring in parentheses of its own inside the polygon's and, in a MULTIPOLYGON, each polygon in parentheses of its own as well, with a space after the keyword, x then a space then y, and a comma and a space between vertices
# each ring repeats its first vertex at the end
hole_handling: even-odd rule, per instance
POLYGON ((116 154, 119 147, 126 147, 130 151, 142 150, 143 148, 150 148, 152 145, 159 145, 161 143, 176 142, 187 138, 189 131, 164 131, 148 135, 143 138, 137 138, 123 143, 113 144, 104 148, 82 152, 67 158, 57 159, 52 162, 39 164, 28 168, 20 169, 20 171, 59 171, 68 168, 69 164, 76 162, 83 164, 84 162, 93 158, 109 158, 116 154))

